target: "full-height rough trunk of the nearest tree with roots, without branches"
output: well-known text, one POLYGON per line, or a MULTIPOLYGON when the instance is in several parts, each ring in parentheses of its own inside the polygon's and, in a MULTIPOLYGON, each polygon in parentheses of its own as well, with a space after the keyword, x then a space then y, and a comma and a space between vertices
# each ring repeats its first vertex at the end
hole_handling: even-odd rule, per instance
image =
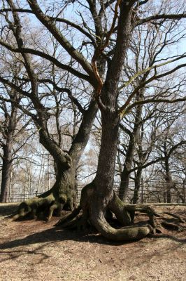
MULTIPOLYGON (((117 153, 118 129, 120 115, 117 111, 118 83, 127 51, 127 44, 131 33, 132 6, 135 1, 120 4, 120 17, 117 25, 117 41, 113 59, 108 64, 106 80, 101 90, 101 100, 99 107, 101 110, 102 135, 101 148, 99 152, 99 162, 94 181, 83 188, 80 198, 80 209, 83 209, 83 216, 79 224, 85 223, 90 218, 92 225, 110 240, 136 240, 152 232, 154 227, 152 209, 145 209, 150 216, 151 225, 128 227, 115 229, 106 221, 106 212, 111 211, 122 226, 129 226, 131 223, 131 210, 125 207, 123 202, 113 191, 113 179, 115 174, 115 157, 117 153)), ((99 96, 99 93, 97 93, 99 96)), ((144 209, 144 208, 143 208, 144 209)), ((62 218, 58 226, 66 226, 66 220, 73 221, 73 215, 77 215, 77 210, 69 216, 62 218)), ((68 225, 68 223, 67 223, 68 225)))

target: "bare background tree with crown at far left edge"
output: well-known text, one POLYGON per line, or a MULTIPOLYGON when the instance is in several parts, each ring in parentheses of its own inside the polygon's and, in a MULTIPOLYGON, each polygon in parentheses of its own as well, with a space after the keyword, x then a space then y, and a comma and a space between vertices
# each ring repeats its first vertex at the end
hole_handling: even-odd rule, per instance
MULTIPOLYGON (((10 60, 4 64, 4 66, 8 65, 12 70, 12 82, 15 82, 15 77, 17 77, 20 72, 20 63, 15 63, 15 60, 10 60)), ((15 83, 17 83, 17 81, 15 83)), ((20 88, 22 87, 21 84, 17 84, 17 86, 20 86, 20 88)), ((19 93, 14 89, 8 89, 6 86, 2 87, 1 91, 0 147, 2 150, 2 172, 0 202, 4 202, 8 197, 13 162, 15 162, 19 150, 22 149, 24 145, 20 136, 24 133, 25 129, 27 129, 30 120, 23 120, 22 112, 20 112, 17 107, 17 105, 21 103, 19 93), (12 103, 7 103, 6 100, 11 100, 12 103)), ((29 136, 26 138, 27 141, 28 138, 29 136)))

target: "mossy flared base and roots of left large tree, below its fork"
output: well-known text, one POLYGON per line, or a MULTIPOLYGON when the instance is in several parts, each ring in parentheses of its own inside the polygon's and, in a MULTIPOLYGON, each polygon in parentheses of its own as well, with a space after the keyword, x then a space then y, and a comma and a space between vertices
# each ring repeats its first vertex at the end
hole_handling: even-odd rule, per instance
POLYGON ((72 160, 69 155, 65 155, 64 158, 66 162, 57 161, 57 178, 53 187, 38 197, 22 202, 13 220, 41 218, 42 214, 46 221, 50 221, 53 214, 60 216, 64 207, 69 207, 71 211, 77 207, 72 160))

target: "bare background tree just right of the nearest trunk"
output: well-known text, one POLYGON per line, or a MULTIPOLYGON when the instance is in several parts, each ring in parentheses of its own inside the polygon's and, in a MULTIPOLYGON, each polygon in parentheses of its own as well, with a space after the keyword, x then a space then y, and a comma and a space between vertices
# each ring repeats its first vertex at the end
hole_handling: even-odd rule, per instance
MULTIPOLYGON (((134 103, 138 103, 138 105, 134 107, 134 110, 132 110, 131 117, 127 115, 127 117, 125 117, 120 124, 120 129, 124 131, 124 138, 126 133, 129 137, 128 146, 126 142, 124 143, 124 166, 121 173, 121 183, 119 190, 119 196, 122 200, 124 200, 124 198, 127 196, 129 189, 129 178, 131 175, 131 168, 134 161, 136 146, 138 146, 138 157, 140 155, 143 157, 143 161, 142 159, 139 161, 144 162, 146 158, 141 150, 141 131, 147 131, 148 126, 145 126, 144 129, 143 124, 144 122, 149 123, 150 120, 153 120, 155 118, 154 116, 157 115, 157 105, 143 105, 143 100, 150 96, 151 100, 153 101, 153 99, 155 100, 159 97, 167 98, 171 94, 176 95, 176 92, 178 95, 182 95, 184 92, 185 73, 181 73, 180 77, 178 77, 179 74, 170 74, 170 77, 164 77, 161 79, 161 81, 156 82, 156 79, 153 80, 151 78, 148 86, 145 84, 145 81, 148 81, 149 79, 152 69, 155 68, 155 71, 157 71, 158 65, 159 67, 162 67, 162 62, 159 63, 159 61, 161 61, 162 58, 163 60, 166 60, 168 48, 170 46, 173 48, 174 46, 178 45, 179 41, 184 37, 184 31, 180 30, 178 33, 176 32, 177 28, 177 22, 167 21, 164 19, 162 20, 161 25, 149 24, 145 27, 138 26, 136 30, 134 30, 135 39, 130 43, 129 55, 124 63, 124 78, 126 77, 125 79, 129 79, 130 82, 129 86, 127 86, 127 89, 124 91, 124 95, 127 96, 127 93, 130 91, 134 91, 134 93, 136 92, 136 95, 134 96, 136 100, 134 100, 134 103), (131 59, 129 60, 129 58, 131 59)), ((169 57, 169 59, 171 58, 169 57)), ((166 60, 166 63, 171 62, 169 59, 166 60)), ((174 110, 177 110, 176 106, 174 107, 174 110)), ((167 114, 168 113, 169 112, 167 112, 167 114)), ((164 114, 164 116, 166 115, 164 114)), ((150 141, 150 143, 152 142, 150 141)), ((150 147, 148 150, 149 149, 150 147)), ((146 150, 146 152, 148 152, 148 150, 146 150)), ((122 141, 120 142, 119 151, 120 153, 123 151, 122 141)), ((141 166, 143 165, 142 162, 141 166)), ((140 178, 140 169, 138 169, 137 174, 138 178, 140 178)))

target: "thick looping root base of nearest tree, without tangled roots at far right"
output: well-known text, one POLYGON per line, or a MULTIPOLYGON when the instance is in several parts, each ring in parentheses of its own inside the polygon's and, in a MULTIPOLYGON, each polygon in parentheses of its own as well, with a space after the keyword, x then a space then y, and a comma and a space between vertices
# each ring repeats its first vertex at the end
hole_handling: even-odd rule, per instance
MULTIPOLYGON (((138 240, 149 233, 152 233, 153 226, 147 224, 145 226, 130 226, 131 216, 130 211, 134 209, 124 208, 124 203, 115 195, 113 190, 110 192, 109 198, 101 197, 96 194, 94 185, 87 185, 82 190, 80 207, 74 210, 71 214, 64 216, 57 226, 62 228, 73 228, 75 225, 85 228, 87 221, 89 221, 96 230, 109 240, 138 240), (83 210, 82 216, 79 216, 80 209, 83 210), (106 221, 106 211, 111 211, 115 214, 122 228, 116 229, 110 226, 106 221)), ((145 209, 147 214, 153 216, 153 211, 150 208, 145 209)), ((151 220, 154 224, 154 221, 151 220)))

